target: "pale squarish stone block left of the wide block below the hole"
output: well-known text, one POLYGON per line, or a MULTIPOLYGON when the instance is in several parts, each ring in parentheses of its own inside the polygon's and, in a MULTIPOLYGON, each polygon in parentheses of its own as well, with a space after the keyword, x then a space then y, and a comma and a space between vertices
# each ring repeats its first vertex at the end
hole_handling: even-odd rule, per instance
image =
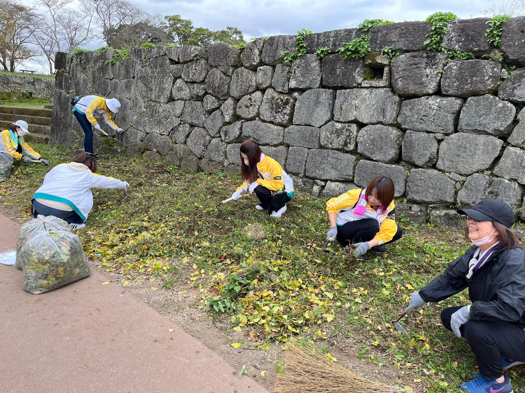
POLYGON ((293 123, 321 127, 332 118, 333 91, 310 89, 298 99, 293 114, 293 123))

